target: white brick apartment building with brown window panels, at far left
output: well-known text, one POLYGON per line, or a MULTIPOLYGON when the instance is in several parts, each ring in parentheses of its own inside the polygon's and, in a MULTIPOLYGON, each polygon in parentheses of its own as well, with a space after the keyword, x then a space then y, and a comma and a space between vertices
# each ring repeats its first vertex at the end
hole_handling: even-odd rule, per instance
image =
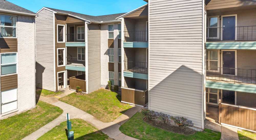
POLYGON ((36 13, 0 0, 0 119, 34 108, 36 13))

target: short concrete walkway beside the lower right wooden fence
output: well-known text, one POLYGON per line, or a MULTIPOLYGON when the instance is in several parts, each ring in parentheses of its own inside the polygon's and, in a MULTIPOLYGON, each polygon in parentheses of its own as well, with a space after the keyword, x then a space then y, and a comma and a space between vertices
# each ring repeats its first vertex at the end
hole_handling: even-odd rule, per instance
POLYGON ((237 128, 222 125, 221 140, 239 140, 237 128))

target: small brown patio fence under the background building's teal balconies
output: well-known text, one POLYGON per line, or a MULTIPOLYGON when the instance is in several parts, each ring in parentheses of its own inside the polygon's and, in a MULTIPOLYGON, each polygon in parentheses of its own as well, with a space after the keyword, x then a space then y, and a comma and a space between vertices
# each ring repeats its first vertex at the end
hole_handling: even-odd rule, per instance
POLYGON ((73 76, 69 78, 69 88, 76 90, 77 86, 80 86, 82 92, 86 92, 86 80, 85 75, 73 76))

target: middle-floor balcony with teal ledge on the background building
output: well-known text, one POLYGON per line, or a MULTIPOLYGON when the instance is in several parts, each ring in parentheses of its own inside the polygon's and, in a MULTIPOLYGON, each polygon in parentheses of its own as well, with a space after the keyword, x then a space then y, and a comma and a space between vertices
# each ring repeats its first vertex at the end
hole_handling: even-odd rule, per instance
POLYGON ((84 58, 66 57, 66 69, 74 71, 85 71, 84 58))

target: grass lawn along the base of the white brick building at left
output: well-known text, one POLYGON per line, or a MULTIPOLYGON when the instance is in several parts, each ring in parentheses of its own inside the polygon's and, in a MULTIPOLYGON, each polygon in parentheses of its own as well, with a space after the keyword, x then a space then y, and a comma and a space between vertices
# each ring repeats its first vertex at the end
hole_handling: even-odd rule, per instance
POLYGON ((38 101, 36 108, 0 120, 0 139, 22 139, 60 116, 62 112, 57 106, 38 101))

